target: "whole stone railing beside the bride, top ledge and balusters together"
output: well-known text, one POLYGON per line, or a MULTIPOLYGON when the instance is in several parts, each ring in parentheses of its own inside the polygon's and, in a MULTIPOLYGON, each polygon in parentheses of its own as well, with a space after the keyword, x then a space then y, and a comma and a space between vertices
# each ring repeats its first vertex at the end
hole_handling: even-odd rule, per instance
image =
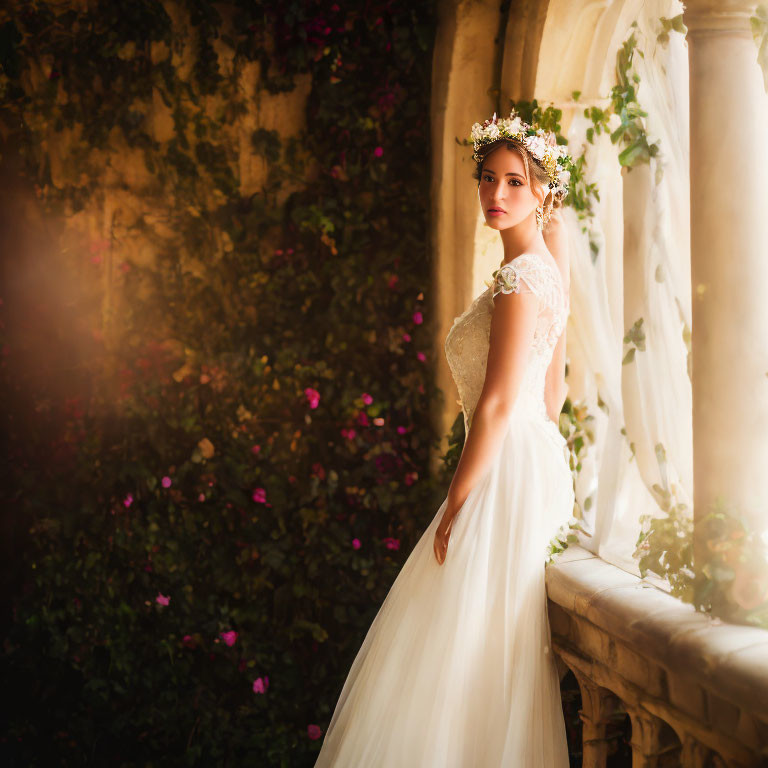
POLYGON ((632 725, 632 766, 768 766, 768 631, 697 613, 580 546, 547 567, 552 647, 579 683, 584 768, 606 726, 632 725))

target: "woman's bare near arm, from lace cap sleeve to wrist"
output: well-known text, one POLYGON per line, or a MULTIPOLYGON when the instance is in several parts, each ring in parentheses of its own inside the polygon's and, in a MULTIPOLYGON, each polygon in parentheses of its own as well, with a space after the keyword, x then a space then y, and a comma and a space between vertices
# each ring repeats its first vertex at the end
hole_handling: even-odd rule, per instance
POLYGON ((498 293, 493 302, 485 381, 448 489, 444 513, 448 520, 458 513, 500 449, 536 329, 539 299, 534 293, 498 293))

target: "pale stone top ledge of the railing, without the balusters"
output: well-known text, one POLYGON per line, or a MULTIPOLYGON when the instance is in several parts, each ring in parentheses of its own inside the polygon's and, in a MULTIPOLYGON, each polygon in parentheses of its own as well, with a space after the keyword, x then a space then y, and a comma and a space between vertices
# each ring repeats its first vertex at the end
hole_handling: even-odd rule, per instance
POLYGON ((546 583, 566 663, 738 764, 768 756, 767 630, 698 613, 580 546, 546 583))

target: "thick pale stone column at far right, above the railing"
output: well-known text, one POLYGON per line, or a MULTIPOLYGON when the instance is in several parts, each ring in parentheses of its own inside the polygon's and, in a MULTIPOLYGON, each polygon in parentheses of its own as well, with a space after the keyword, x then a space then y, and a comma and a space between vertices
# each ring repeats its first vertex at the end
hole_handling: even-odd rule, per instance
POLYGON ((768 528, 768 107, 747 0, 688 0, 695 520, 768 528))

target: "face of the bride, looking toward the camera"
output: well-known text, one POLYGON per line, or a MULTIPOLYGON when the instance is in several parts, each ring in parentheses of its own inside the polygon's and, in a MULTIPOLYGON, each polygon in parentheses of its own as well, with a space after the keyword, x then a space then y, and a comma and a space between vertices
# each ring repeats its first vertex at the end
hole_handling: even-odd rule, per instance
POLYGON ((478 195, 488 226, 498 230, 519 224, 541 204, 525 180, 520 153, 503 144, 485 158, 478 195))

